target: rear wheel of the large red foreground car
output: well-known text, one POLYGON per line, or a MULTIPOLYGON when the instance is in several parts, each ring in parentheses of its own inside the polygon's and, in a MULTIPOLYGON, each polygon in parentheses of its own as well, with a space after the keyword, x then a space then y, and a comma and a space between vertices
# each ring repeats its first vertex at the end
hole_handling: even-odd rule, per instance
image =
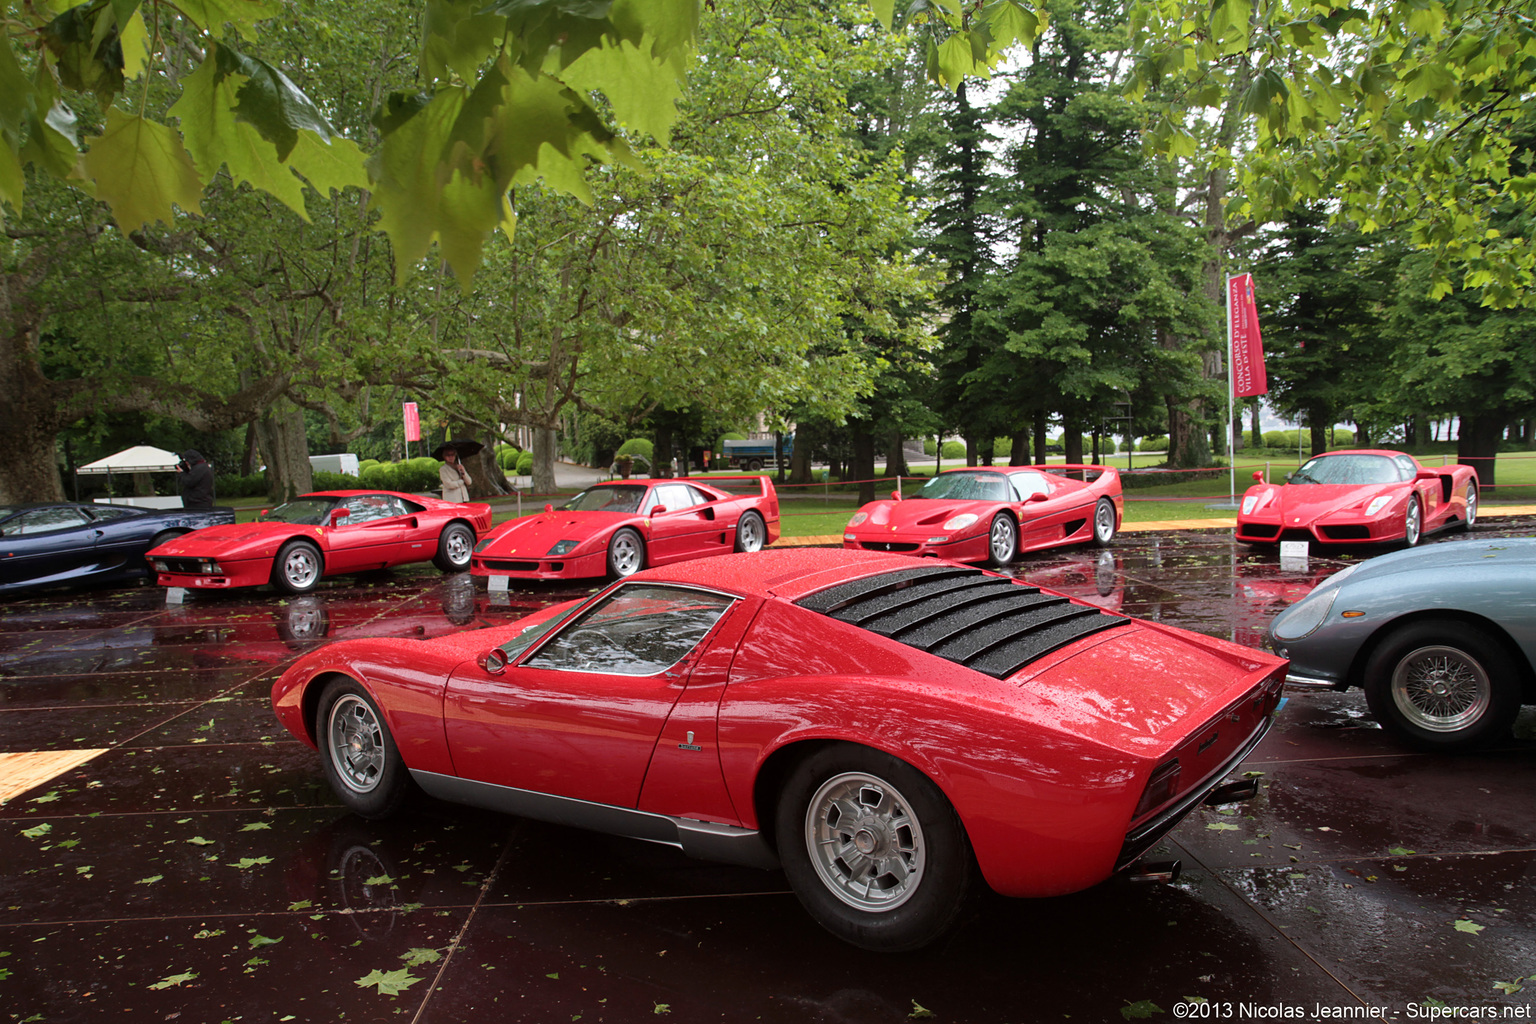
POLYGON ((845 943, 920 949, 954 927, 972 894, 975 860, 954 808, 889 754, 822 748, 791 772, 774 820, 796 897, 845 943))

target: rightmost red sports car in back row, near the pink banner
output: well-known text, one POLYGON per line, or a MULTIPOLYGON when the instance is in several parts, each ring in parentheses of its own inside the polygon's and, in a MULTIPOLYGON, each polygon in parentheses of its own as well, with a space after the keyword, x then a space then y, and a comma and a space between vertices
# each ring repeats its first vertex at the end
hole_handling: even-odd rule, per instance
POLYGON ((1401 451, 1361 448, 1307 459, 1284 484, 1250 487, 1238 510, 1236 539, 1402 542, 1412 548, 1425 533, 1465 530, 1476 519, 1478 473, 1470 465, 1430 468, 1401 451))

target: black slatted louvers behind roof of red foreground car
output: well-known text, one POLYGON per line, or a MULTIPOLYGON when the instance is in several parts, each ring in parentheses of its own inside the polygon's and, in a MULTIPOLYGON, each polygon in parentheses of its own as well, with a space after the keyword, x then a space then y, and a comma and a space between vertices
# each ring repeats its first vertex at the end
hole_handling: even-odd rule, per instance
POLYGON ((919 651, 1008 679, 1080 637, 1130 622, 980 570, 925 565, 796 602, 919 651))

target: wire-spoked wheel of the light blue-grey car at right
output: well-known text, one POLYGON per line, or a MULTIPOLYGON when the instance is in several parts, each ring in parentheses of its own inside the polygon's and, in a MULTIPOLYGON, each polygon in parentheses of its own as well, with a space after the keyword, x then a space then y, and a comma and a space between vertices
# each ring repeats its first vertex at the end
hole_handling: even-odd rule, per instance
POLYGON ((1510 735, 1521 679, 1504 645, 1464 622, 1412 622, 1366 663, 1366 703, 1384 729, 1421 751, 1464 751, 1510 735))

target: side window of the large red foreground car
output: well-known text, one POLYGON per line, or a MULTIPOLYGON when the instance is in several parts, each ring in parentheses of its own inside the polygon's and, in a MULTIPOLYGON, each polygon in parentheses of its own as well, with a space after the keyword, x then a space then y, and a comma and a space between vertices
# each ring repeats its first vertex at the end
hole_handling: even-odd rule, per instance
POLYGON ((699 646, 734 597, 685 586, 621 586, 524 665, 558 672, 656 676, 699 646))

